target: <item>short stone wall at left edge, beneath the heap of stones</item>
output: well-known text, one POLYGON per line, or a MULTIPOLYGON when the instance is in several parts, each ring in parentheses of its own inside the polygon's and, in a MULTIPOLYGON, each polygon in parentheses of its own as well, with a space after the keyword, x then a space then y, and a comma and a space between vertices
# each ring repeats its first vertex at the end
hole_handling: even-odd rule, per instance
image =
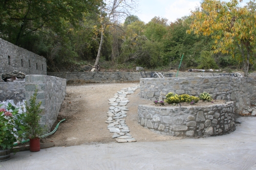
POLYGON ((21 92, 25 93, 25 81, 0 83, 0 95, 3 97, 13 95, 13 94, 22 95, 21 92))

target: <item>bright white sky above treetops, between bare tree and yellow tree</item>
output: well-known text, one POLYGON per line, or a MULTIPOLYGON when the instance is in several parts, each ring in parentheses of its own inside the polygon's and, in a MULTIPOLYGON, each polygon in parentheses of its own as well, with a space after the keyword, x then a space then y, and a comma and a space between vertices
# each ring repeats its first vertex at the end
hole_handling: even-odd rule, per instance
MULTIPOLYGON (((138 12, 134 15, 137 15, 145 23, 155 16, 175 21, 182 16, 188 16, 191 10, 200 6, 200 2, 200 0, 139 0, 138 12)), ((244 0, 241 5, 245 5, 247 2, 249 0, 244 0)))

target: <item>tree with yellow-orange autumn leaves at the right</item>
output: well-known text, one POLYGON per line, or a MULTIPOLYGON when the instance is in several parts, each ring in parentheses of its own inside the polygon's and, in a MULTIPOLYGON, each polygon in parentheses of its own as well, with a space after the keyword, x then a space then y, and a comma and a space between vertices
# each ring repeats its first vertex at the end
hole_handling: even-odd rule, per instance
POLYGON ((191 11, 192 22, 187 33, 211 36, 215 39, 214 53, 237 56, 243 61, 244 76, 248 77, 249 62, 255 52, 255 0, 244 7, 240 2, 204 0, 199 9, 191 11))

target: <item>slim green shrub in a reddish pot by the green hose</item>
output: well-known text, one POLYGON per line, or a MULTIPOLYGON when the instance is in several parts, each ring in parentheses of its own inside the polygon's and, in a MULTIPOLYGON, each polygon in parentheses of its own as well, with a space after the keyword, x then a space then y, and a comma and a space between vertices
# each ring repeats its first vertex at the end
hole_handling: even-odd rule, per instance
POLYGON ((31 96, 29 103, 26 101, 26 116, 24 122, 26 124, 26 135, 29 138, 29 146, 31 152, 40 151, 40 135, 44 134, 45 128, 39 124, 41 101, 36 102, 38 89, 35 90, 34 94, 31 96))

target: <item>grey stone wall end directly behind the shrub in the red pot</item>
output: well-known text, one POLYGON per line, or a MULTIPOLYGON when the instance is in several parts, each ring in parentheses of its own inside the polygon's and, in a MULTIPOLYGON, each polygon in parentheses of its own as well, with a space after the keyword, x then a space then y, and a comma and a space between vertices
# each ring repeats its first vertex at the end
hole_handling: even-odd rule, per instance
POLYGON ((25 77, 26 100, 30 99, 37 88, 37 99, 41 101, 41 124, 50 130, 60 110, 61 103, 66 96, 66 80, 44 75, 27 75, 25 77))

